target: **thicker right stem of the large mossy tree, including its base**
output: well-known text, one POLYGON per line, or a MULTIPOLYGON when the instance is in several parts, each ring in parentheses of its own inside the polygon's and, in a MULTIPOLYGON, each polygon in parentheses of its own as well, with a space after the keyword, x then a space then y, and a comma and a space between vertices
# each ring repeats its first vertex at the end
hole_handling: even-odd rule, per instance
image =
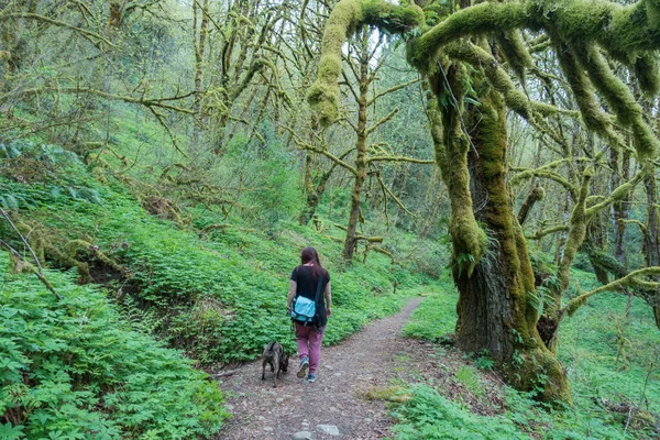
POLYGON ((504 105, 498 95, 488 95, 468 122, 476 128, 475 152, 470 154, 475 218, 486 224, 488 250, 472 276, 454 273, 461 294, 458 343, 469 352, 487 349, 520 387, 543 389, 544 398, 568 402, 565 373, 536 328, 538 314, 530 300, 534 272, 504 182, 504 105))

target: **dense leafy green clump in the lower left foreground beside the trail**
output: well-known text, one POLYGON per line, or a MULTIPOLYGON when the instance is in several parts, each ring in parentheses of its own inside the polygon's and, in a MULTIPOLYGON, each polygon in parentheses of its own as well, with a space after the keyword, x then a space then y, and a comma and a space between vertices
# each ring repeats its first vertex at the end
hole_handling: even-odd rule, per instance
POLYGON ((208 437, 222 395, 182 353, 135 332, 106 295, 48 271, 11 275, 0 252, 0 424, 3 439, 208 437))

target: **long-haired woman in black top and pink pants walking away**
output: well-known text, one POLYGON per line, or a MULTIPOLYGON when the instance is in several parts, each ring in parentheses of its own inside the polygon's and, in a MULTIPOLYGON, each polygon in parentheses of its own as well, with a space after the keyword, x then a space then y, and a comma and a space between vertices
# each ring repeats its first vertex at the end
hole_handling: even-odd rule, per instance
POLYGON ((316 316, 314 322, 302 323, 294 319, 296 327, 296 341, 300 369, 298 377, 307 376, 310 383, 317 378, 317 369, 321 359, 321 340, 326 330, 328 317, 332 315, 330 306, 332 296, 330 290, 330 274, 321 266, 319 254, 314 248, 305 248, 300 254, 300 265, 294 268, 289 285, 287 308, 290 315, 294 298, 305 297, 316 300, 316 316), (317 295, 322 289, 324 295, 317 295), (318 298, 317 298, 318 297, 318 298), (323 300, 324 298, 324 300, 323 300))

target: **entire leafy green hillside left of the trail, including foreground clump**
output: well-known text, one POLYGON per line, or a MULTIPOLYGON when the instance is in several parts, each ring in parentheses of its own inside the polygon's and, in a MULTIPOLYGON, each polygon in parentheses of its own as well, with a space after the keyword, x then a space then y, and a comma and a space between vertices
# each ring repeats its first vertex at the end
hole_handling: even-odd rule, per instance
MULTIPOLYGON (((344 267, 337 263, 341 244, 330 239, 328 231, 319 233, 286 220, 268 234, 229 229, 199 235, 147 213, 121 182, 109 174, 99 180, 98 168, 89 169, 61 148, 44 150, 30 143, 20 148, 32 153, 29 161, 23 161, 22 172, 34 170, 25 174, 29 184, 0 174, 0 202, 11 205, 14 219, 35 227, 32 237, 41 234, 61 250, 72 240, 89 242, 128 267, 130 275, 119 278, 94 251, 81 248, 75 257, 90 263, 95 276, 108 282, 105 293, 73 284, 76 271, 67 276, 51 273, 48 277, 70 305, 67 309, 54 304, 32 277, 6 284, 3 311, 29 308, 33 324, 47 329, 43 322, 47 314, 42 312, 53 309, 55 323, 74 340, 65 338, 66 343, 53 351, 47 349, 50 338, 59 344, 58 338, 64 337, 59 330, 40 333, 43 346, 37 348, 31 346, 25 332, 2 327, 0 340, 20 345, 20 350, 3 348, 20 365, 14 364, 3 376, 0 414, 19 400, 20 410, 30 408, 23 418, 6 418, 2 435, 20 438, 21 432, 38 437, 46 431, 79 431, 105 432, 107 438, 182 438, 216 431, 224 417, 219 392, 209 388, 180 355, 134 331, 155 331, 169 346, 182 348, 205 363, 253 359, 273 339, 294 350, 285 316, 286 292, 290 271, 306 245, 319 249, 332 276, 334 308, 324 343, 336 343, 369 320, 395 312, 428 282, 393 266, 380 254, 370 255, 366 265, 355 262, 344 267), (30 289, 21 290, 20 283, 28 283, 30 289), (33 296, 38 301, 21 302, 33 296), (69 320, 67 310, 75 310, 75 317, 88 316, 91 324, 69 331, 79 318, 69 320), (86 341, 78 343, 78 339, 86 341), (108 345, 103 340, 116 343, 108 345), (42 373, 53 367, 52 356, 57 356, 55 365, 66 373, 56 381, 42 373), (75 369, 66 366, 76 359, 82 361, 75 369), (169 372, 172 362, 180 362, 180 370, 169 372), (110 369, 116 375, 97 377, 99 369, 110 369), (157 389, 150 387, 154 384, 157 389), (35 395, 48 397, 35 402, 35 395), (158 402, 162 405, 155 408, 158 402), (211 408, 206 407, 209 405, 211 408)), ((196 221, 204 227, 217 220, 212 212, 201 210, 196 212, 196 221)), ((6 221, 0 222, 0 235, 24 250, 6 221)))

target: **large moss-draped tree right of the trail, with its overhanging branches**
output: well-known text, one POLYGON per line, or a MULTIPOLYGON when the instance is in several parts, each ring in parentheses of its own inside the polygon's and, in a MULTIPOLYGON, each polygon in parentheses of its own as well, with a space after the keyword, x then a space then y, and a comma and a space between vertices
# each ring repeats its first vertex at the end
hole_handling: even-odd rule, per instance
MULTIPOLYGON (((509 67, 524 77, 528 68, 537 68, 522 38, 516 38, 515 32, 544 31, 586 128, 612 145, 620 145, 620 135, 614 130, 616 118, 616 122, 631 133, 638 156, 644 160, 660 150, 660 142, 608 61, 625 64, 635 70, 645 92, 658 94, 660 76, 657 75, 654 53, 660 48, 660 2, 640 0, 624 7, 616 2, 586 0, 460 0, 460 8, 453 8, 457 2, 449 3, 448 9, 429 8, 425 15, 409 2, 338 2, 328 20, 319 75, 308 100, 316 107, 322 123, 337 120, 342 44, 359 25, 371 24, 409 36, 415 34, 410 30, 420 31, 418 36, 409 37, 407 57, 429 78, 430 89, 438 98, 427 114, 431 121, 436 160, 451 200, 449 230, 453 274, 460 290, 459 345, 468 351, 487 349, 506 366, 508 378, 518 387, 540 391, 547 400, 570 402, 565 374, 552 350, 557 345, 554 330, 560 318, 579 307, 573 304, 570 310, 562 308, 561 295, 569 287, 570 266, 584 242, 587 221, 620 199, 639 178, 623 184, 587 210, 586 198, 594 170, 588 167, 582 173, 580 196, 572 204, 565 245, 563 252, 558 253, 559 286, 547 295, 543 304, 550 329, 546 337, 549 339, 541 340, 537 329, 539 299, 535 295, 527 245, 504 184, 504 101, 531 127, 543 132, 548 130, 542 119, 556 109, 532 102, 529 95, 518 90, 499 67, 497 55, 494 56, 498 51, 487 47, 485 42, 490 37, 498 38, 502 32, 507 33, 504 40, 508 42, 501 41, 499 44, 509 67), (428 26, 430 23, 435 25, 428 26), (632 53, 637 55, 635 58, 627 56, 632 53), (471 80, 465 77, 464 66, 452 61, 471 65, 472 81, 481 78, 480 87, 474 87, 475 96, 470 97, 476 98, 479 109, 464 111, 463 99, 471 80), (485 86, 484 78, 493 89, 485 86), (602 110, 600 100, 613 110, 613 114, 602 110), (469 168, 468 152, 471 148, 473 166, 469 168), (487 235, 477 219, 483 221, 487 235)), ((419 4, 426 7, 428 3, 419 4)), ((359 202, 359 198, 353 199, 355 220, 359 202)), ((566 212, 569 209, 566 206, 566 212)), ((352 246, 346 250, 352 252, 352 246)))

